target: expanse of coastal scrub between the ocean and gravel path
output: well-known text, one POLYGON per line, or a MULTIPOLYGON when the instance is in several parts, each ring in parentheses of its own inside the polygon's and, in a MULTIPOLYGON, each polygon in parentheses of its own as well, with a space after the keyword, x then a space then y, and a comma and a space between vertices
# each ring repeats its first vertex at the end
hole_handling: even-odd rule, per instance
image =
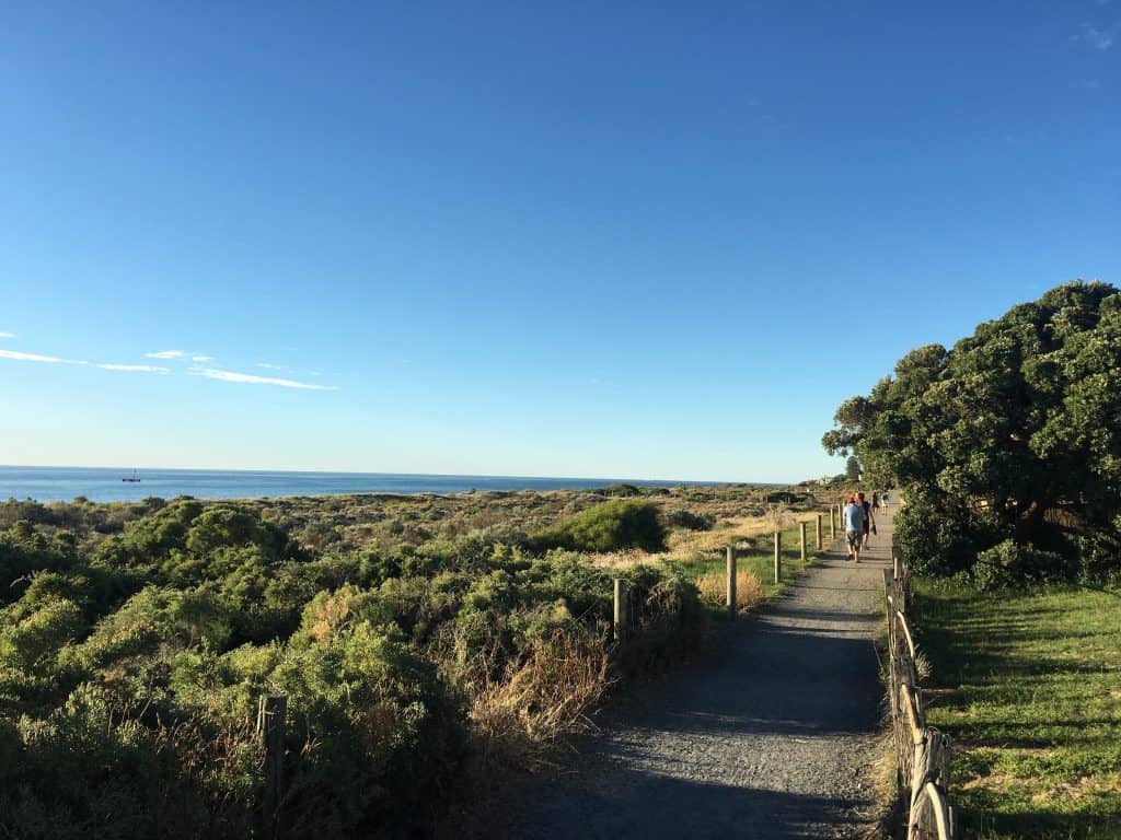
MULTIPOLYGON (((0 505, 0 836, 259 832, 288 697, 288 837, 424 836, 702 642, 749 487, 0 505), (613 577, 634 634, 611 638, 613 577)), ((797 553, 789 535, 788 547, 797 553)), ((760 562, 763 562, 760 560, 760 562)), ((767 567, 769 568, 769 567, 767 567)), ((740 581, 749 608, 765 588, 740 581)))

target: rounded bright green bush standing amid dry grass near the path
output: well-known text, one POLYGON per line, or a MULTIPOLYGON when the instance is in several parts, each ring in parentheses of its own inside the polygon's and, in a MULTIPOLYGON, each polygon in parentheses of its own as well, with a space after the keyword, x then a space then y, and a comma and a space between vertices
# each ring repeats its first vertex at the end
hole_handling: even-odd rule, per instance
POLYGON ((665 548, 666 529, 656 505, 615 500, 583 511, 541 532, 534 542, 539 548, 574 551, 660 551, 665 548))

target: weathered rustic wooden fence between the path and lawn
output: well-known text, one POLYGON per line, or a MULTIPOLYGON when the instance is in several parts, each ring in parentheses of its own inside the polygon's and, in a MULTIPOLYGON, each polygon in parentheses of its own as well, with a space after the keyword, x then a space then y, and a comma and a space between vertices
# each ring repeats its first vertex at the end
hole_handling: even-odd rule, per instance
POLYGON ((888 624, 888 702, 899 785, 909 796, 908 840, 956 840, 957 819, 949 802, 949 736, 926 725, 917 648, 911 634, 910 575, 892 547, 892 568, 883 570, 888 624))

